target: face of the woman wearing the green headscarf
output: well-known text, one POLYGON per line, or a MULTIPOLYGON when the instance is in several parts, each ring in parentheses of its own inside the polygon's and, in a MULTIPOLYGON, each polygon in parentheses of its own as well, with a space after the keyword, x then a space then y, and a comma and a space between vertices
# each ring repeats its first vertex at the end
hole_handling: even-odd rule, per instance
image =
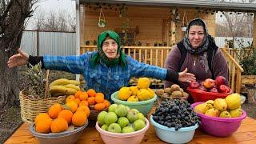
POLYGON ((118 54, 118 43, 112 38, 106 38, 102 43, 102 50, 108 58, 116 58, 118 54))

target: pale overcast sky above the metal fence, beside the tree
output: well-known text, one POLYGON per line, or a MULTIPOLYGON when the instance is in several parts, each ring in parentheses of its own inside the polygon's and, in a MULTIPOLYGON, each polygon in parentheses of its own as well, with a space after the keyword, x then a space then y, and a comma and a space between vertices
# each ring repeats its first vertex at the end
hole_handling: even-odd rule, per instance
POLYGON ((34 21, 38 18, 38 13, 44 13, 48 15, 50 11, 58 12, 64 11, 66 15, 70 14, 72 17, 75 17, 75 1, 71 0, 38 0, 34 5, 34 8, 37 9, 34 11, 33 17, 27 23, 26 30, 31 30, 34 25, 34 21))

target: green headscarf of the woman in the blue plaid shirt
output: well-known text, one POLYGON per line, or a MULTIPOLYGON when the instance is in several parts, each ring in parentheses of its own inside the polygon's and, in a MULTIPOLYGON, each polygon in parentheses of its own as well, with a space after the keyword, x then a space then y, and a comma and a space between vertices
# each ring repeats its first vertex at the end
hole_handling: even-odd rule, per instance
POLYGON ((112 30, 106 30, 102 32, 102 34, 98 35, 98 42, 97 42, 97 49, 98 53, 94 54, 92 58, 90 58, 90 65, 96 66, 100 59, 107 65, 107 66, 114 66, 118 63, 121 64, 121 66, 126 66, 126 54, 124 54, 120 48, 121 42, 119 35, 115 33, 112 30), (118 58, 108 58, 104 51, 102 50, 102 43, 106 40, 107 37, 110 37, 114 39, 115 42, 118 44, 118 50, 117 53, 119 55, 118 58))

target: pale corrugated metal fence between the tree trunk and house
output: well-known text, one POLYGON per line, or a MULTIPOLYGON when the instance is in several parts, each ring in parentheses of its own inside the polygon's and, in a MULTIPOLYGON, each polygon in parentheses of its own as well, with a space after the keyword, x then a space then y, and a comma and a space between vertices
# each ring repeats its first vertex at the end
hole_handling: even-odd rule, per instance
POLYGON ((75 55, 75 33, 23 31, 21 47, 31 55, 75 55))

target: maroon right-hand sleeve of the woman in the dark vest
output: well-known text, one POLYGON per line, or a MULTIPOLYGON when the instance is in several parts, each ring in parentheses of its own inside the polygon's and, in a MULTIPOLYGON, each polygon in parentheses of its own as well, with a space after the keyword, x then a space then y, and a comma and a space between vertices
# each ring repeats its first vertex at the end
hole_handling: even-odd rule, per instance
POLYGON ((222 76, 228 80, 229 69, 227 66, 226 59, 224 58, 222 51, 220 49, 218 49, 216 54, 214 55, 214 61, 212 65, 214 70, 214 78, 222 76))

